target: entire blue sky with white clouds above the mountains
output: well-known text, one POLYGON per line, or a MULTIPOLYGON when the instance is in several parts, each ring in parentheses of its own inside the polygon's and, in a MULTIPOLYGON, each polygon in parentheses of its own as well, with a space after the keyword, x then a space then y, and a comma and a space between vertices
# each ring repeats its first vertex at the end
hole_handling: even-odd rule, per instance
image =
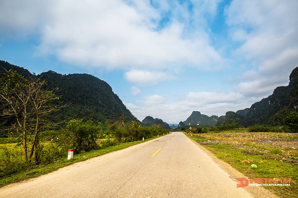
POLYGON ((142 121, 224 115, 288 85, 297 0, 2 0, 0 59, 88 73, 142 121))

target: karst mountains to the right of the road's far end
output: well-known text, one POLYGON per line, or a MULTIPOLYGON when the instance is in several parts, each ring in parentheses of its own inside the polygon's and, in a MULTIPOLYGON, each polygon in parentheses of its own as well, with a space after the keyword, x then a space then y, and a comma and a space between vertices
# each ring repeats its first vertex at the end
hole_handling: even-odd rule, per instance
POLYGON ((250 108, 228 111, 224 116, 203 115, 193 111, 186 121, 180 122, 179 126, 209 125, 220 126, 221 124, 239 123, 240 126, 253 126, 255 124, 281 126, 286 110, 298 109, 298 67, 290 74, 288 86, 280 86, 274 89, 273 94, 259 102, 252 104, 250 108))

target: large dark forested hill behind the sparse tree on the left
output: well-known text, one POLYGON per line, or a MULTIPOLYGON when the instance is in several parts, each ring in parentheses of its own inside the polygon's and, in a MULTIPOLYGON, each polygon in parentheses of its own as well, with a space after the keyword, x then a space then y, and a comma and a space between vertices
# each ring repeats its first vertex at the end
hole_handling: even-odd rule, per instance
MULTIPOLYGON (((18 74, 28 77, 40 77, 47 82, 46 89, 59 88, 59 103, 69 104, 58 112, 53 113, 54 121, 92 118, 94 122, 116 120, 121 115, 126 121, 137 121, 134 115, 125 107, 119 97, 114 94, 108 83, 89 74, 61 75, 53 71, 35 76, 27 69, 0 61, 1 74, 13 69, 18 74)), ((0 118, 1 124, 7 123, 7 118, 0 118)))

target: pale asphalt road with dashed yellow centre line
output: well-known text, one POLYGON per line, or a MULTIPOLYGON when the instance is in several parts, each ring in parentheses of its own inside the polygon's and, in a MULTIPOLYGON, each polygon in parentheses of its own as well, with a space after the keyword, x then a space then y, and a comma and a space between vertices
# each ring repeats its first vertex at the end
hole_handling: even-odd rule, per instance
POLYGON ((0 197, 252 197, 236 184, 182 132, 173 132, 5 186, 0 197))

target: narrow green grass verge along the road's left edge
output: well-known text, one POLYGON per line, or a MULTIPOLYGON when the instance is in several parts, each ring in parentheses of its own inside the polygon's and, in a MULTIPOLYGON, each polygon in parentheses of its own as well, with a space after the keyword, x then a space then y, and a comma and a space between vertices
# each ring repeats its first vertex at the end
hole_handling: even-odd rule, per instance
MULTIPOLYGON (((160 135, 159 137, 162 137, 162 136, 163 135, 160 135)), ((96 151, 90 151, 90 152, 77 154, 77 155, 74 155, 73 159, 71 159, 71 160, 67 160, 67 154, 66 154, 65 159, 62 159, 62 160, 60 159, 60 160, 54 161, 52 164, 48 164, 48 165, 35 166, 34 168, 31 168, 31 169, 26 169, 25 168, 25 170, 24 170, 24 168, 20 167, 20 171, 18 171, 17 173, 1 177, 0 178, 0 187, 8 185, 10 183, 15 183, 15 182, 19 182, 19 181, 22 181, 22 180, 35 178, 35 177, 38 177, 40 175, 45 175, 47 173, 58 170, 59 168, 66 167, 70 164, 74 164, 74 163, 80 162, 80 161, 85 161, 87 159, 97 157, 97 156, 101 156, 101 155, 104 155, 106 153, 111 153, 113 151, 118 151, 118 150, 121 150, 121 149, 124 149, 124 148, 128 148, 132 145, 136 145, 136 144, 139 144, 139 143, 142 143, 142 142, 153 140, 155 138, 157 138, 157 137, 148 138, 148 139, 145 139, 144 141, 120 143, 118 145, 110 146, 110 147, 99 149, 99 150, 96 150, 96 151), (27 175, 28 173, 32 173, 32 174, 27 175)), ((14 148, 15 143, 5 144, 5 145, 7 145, 10 148, 14 148)), ((0 156, 0 158, 1 158, 1 156, 0 156)), ((26 163, 26 162, 24 162, 24 163, 26 163)), ((22 165, 24 165, 24 164, 22 164, 22 165)), ((21 164, 20 164, 20 166, 21 166, 21 164)))

